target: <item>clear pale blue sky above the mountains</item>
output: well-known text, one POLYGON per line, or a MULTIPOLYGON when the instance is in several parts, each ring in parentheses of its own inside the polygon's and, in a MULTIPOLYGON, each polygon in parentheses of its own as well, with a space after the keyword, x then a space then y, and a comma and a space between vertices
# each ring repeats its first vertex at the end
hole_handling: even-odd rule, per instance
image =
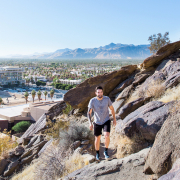
POLYGON ((0 0, 0 56, 180 40, 178 0, 0 0))

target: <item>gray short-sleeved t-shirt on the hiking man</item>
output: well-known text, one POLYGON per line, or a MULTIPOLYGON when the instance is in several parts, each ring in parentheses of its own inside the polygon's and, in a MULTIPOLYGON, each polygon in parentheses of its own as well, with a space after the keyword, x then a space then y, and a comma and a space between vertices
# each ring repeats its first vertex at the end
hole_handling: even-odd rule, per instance
POLYGON ((112 102, 108 96, 103 96, 102 100, 98 100, 97 97, 92 98, 89 101, 88 107, 94 111, 94 122, 102 125, 109 120, 108 107, 112 105, 112 102))

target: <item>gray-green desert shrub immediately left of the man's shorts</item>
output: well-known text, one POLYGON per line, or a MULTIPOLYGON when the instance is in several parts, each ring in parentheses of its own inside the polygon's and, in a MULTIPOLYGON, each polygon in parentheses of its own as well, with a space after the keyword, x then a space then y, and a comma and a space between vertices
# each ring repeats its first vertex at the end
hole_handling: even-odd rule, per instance
POLYGON ((60 131, 60 141, 59 144, 60 146, 63 146, 65 149, 68 149, 69 146, 77 141, 77 140, 83 140, 83 139, 89 139, 93 140, 93 134, 92 131, 89 130, 84 125, 78 125, 75 123, 72 123, 69 127, 68 130, 66 131, 60 131))

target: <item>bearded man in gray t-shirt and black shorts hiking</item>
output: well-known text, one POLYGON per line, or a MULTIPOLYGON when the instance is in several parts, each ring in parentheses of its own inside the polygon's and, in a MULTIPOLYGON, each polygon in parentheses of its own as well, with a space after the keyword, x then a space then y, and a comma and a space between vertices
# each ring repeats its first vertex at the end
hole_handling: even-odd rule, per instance
POLYGON ((89 128, 93 130, 93 123, 91 121, 92 111, 94 112, 94 135, 95 135, 95 149, 96 149, 96 160, 99 161, 99 148, 100 148, 100 139, 102 134, 102 129, 105 137, 105 150, 104 156, 105 159, 109 158, 108 155, 108 146, 110 143, 110 130, 111 130, 111 121, 109 119, 109 110, 113 115, 113 125, 116 126, 116 117, 112 102, 108 96, 103 96, 103 88, 101 86, 96 87, 95 89, 96 97, 92 98, 89 101, 88 105, 88 119, 89 119, 89 128))

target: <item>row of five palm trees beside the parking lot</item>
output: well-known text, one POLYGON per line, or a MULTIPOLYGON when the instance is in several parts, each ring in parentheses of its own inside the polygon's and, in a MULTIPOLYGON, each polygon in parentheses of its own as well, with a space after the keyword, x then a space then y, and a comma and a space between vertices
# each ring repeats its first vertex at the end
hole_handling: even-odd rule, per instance
MULTIPOLYGON (((44 91, 45 101, 46 101, 46 96, 47 96, 47 94, 48 94, 48 92, 47 92, 47 91, 44 91)), ((31 91, 31 95, 32 95, 33 102, 34 102, 34 98, 35 98, 35 96, 36 96, 36 91, 35 91, 34 89, 31 91)), ((42 92, 39 90, 39 91, 37 92, 37 96, 38 96, 39 102, 40 102, 40 100, 41 100, 41 95, 42 95, 42 92)), ((26 104, 27 104, 27 101, 28 101, 28 96, 29 96, 29 93, 26 91, 26 92, 24 93, 24 97, 25 97, 25 99, 26 99, 26 104)), ((51 96, 51 99, 52 99, 53 96, 54 96, 54 89, 51 89, 51 91, 50 91, 50 96, 51 96)))

